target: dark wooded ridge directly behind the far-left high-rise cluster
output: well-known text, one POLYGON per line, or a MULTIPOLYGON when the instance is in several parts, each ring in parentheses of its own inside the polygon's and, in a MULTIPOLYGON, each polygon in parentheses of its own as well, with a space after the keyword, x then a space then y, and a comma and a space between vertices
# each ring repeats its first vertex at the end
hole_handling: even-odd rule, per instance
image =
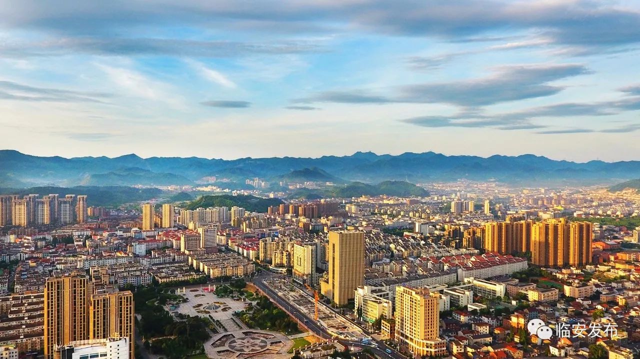
POLYGON ((77 186, 77 187, 30 187, 0 188, 0 195, 29 195, 37 193, 40 196, 57 193, 61 197, 65 195, 86 195, 88 205, 100 207, 118 207, 124 203, 146 201, 157 198, 162 191, 157 188, 134 188, 122 186, 77 186))

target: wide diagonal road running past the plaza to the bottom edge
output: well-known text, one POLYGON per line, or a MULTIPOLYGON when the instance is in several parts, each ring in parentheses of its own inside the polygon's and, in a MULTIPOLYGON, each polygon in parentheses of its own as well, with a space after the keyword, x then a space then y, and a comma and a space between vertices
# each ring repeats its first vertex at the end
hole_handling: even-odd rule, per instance
MULTIPOLYGON (((290 315, 292 315, 300 323, 303 323, 303 325, 306 326, 308 330, 312 331, 315 335, 317 335, 321 339, 333 338, 333 336, 330 333, 328 333, 328 331, 326 330, 326 328, 324 328, 324 326, 314 321, 310 316, 307 315, 307 313, 300 312, 298 308, 292 306, 287 301, 285 301, 285 299, 280 297, 278 293, 276 293, 268 285, 266 285, 266 283, 264 283, 263 280, 264 278, 255 278, 255 280, 253 280, 253 285, 255 285, 258 289, 260 289, 260 291, 264 292, 264 294, 266 294, 266 296, 268 296, 269 299, 271 299, 271 301, 277 303, 278 305, 280 305, 280 307, 285 308, 285 310, 287 310, 287 312, 289 312, 290 315)), ((397 351, 388 347, 386 344, 378 340, 374 340, 374 339, 371 340, 371 342, 378 344, 378 347, 367 346, 365 344, 362 344, 362 342, 353 342, 349 340, 339 340, 339 342, 346 346, 369 348, 369 350, 371 350, 372 353, 374 353, 380 358, 406 359, 406 357, 400 355, 399 353, 397 353, 397 351), (392 353, 388 354, 387 352, 385 352, 385 349, 390 349, 392 353)))

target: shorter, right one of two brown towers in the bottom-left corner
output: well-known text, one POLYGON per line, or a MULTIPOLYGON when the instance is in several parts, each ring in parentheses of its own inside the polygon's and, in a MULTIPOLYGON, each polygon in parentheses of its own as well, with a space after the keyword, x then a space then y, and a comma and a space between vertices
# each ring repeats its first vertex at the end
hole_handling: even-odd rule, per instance
POLYGON ((89 299, 89 337, 129 339, 129 358, 133 358, 134 305, 130 291, 93 294, 89 299))

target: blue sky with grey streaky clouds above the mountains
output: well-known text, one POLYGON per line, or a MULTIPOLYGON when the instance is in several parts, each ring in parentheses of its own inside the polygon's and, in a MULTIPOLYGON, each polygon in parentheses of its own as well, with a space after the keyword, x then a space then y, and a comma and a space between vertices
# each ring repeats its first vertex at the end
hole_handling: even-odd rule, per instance
POLYGON ((640 159, 640 0, 0 0, 0 148, 640 159))

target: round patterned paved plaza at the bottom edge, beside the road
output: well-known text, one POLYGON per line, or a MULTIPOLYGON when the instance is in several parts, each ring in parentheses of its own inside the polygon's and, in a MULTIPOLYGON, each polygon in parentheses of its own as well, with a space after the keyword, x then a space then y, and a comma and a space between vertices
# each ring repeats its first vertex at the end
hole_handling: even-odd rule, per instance
POLYGON ((293 342, 276 331, 245 329, 214 335, 204 344, 209 358, 290 358, 293 342))

